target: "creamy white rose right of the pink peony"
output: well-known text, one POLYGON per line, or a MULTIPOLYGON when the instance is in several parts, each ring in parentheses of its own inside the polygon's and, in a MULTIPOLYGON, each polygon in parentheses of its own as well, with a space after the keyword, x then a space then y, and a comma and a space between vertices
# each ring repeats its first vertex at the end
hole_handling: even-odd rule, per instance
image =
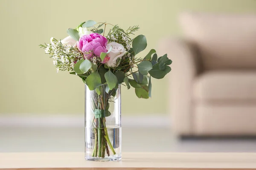
POLYGON ((125 55, 127 51, 125 51, 125 48, 122 44, 119 44, 117 42, 110 42, 106 46, 107 50, 111 48, 111 45, 112 50, 110 51, 110 53, 108 53, 108 57, 110 57, 110 59, 108 60, 108 62, 106 62, 106 64, 108 65, 108 67, 116 67, 118 66, 116 65, 116 60, 125 55))

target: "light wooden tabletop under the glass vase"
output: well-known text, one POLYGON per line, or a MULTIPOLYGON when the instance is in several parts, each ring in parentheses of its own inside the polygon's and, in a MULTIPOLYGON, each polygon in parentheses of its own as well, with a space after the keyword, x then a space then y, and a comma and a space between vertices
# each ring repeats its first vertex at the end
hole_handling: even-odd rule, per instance
POLYGON ((122 161, 86 161, 84 153, 0 153, 0 170, 256 170, 256 153, 122 153, 122 161), (9 169, 10 170, 10 169, 9 169))

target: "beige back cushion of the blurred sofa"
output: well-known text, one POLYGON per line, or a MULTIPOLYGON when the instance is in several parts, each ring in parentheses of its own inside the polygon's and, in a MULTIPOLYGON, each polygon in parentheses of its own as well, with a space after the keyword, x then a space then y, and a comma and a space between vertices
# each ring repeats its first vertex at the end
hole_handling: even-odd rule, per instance
POLYGON ((256 15, 186 13, 180 22, 206 70, 256 68, 256 15))

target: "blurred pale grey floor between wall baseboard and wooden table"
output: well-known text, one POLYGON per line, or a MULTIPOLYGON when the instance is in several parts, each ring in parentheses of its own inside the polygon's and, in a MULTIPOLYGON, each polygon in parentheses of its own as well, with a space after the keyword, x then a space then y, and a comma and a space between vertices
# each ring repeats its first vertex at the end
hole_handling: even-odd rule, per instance
MULTIPOLYGON (((0 152, 83 151, 83 127, 0 127, 0 152)), ((256 139, 179 140, 167 128, 122 127, 122 152, 256 152, 256 139)))

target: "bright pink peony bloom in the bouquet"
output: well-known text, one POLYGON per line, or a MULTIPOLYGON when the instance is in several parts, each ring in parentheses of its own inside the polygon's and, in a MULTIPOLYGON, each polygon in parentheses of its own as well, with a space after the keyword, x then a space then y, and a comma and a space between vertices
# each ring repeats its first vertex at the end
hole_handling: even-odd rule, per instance
MULTIPOLYGON (((89 35, 84 35, 79 39, 77 47, 83 52, 93 52, 97 57, 100 56, 102 52, 107 52, 106 45, 108 40, 100 34, 93 33, 89 35)), ((85 57, 91 59, 93 54, 87 54, 85 57)))

